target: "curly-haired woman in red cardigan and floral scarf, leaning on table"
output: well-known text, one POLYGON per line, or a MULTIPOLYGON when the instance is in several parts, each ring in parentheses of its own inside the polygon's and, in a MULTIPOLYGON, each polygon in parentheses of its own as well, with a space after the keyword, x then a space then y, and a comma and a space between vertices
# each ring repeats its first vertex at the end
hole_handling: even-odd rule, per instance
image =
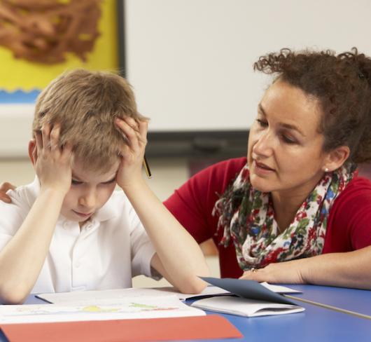
MULTIPOLYGON (((284 49, 254 69, 276 78, 258 104, 247 158, 199 172, 165 205, 221 276, 371 289, 371 60, 284 49)), ((6 187, 5 187, 6 188, 6 187)))

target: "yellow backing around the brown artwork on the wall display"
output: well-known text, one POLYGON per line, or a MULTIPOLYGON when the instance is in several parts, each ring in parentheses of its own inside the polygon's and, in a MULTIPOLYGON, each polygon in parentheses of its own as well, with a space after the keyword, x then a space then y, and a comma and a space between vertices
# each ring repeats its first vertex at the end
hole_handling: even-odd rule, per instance
MULTIPOLYGON (((70 0, 78 1, 78 0, 70 0)), ((118 20, 117 1, 101 0, 98 2, 100 16, 97 20, 99 36, 94 41, 92 50, 85 55, 85 61, 73 53, 65 53, 65 61, 53 64, 31 62, 14 55, 14 51, 0 46, 0 90, 12 93, 15 90, 29 92, 41 90, 53 78, 66 69, 83 67, 118 71, 118 20)), ((10 1, 1 1, 10 3, 10 1)), ((37 1, 35 0, 34 3, 37 1)), ((60 1, 67 4, 68 0, 60 1)))

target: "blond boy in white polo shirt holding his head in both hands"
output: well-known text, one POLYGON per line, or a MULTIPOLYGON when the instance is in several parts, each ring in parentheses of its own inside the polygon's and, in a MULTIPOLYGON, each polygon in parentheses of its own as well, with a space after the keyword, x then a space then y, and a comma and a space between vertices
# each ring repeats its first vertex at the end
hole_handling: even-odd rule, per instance
POLYGON ((200 247, 141 176, 147 125, 120 76, 76 70, 43 90, 29 142, 36 179, 0 203, 2 303, 130 287, 153 271, 202 291, 200 247))

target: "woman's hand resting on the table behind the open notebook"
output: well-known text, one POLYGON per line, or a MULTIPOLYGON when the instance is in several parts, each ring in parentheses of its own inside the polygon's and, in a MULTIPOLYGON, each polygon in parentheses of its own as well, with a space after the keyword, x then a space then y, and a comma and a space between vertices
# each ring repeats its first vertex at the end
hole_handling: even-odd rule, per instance
POLYGON ((305 259, 269 264, 264 268, 245 271, 239 279, 255 280, 257 282, 304 284, 306 281, 302 276, 302 271, 306 267, 305 264, 305 259))

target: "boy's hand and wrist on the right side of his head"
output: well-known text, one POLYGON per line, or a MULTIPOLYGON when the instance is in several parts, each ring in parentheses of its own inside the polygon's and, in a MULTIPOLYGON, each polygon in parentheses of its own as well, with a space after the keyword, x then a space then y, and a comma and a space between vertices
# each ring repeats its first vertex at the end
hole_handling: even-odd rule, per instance
POLYGON ((141 166, 147 144, 147 121, 136 121, 134 118, 116 118, 116 125, 126 137, 127 144, 121 151, 118 167, 117 184, 121 188, 141 181, 141 166))

